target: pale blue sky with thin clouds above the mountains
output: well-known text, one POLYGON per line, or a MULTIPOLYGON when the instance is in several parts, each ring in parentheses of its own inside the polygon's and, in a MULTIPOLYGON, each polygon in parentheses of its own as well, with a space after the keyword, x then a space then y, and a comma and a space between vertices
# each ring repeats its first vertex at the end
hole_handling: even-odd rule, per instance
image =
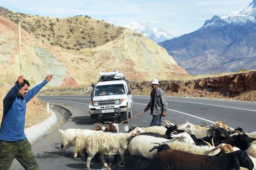
POLYGON ((199 29, 214 15, 241 11, 253 0, 0 0, 15 12, 65 18, 89 15, 119 25, 152 22, 174 36, 199 29))

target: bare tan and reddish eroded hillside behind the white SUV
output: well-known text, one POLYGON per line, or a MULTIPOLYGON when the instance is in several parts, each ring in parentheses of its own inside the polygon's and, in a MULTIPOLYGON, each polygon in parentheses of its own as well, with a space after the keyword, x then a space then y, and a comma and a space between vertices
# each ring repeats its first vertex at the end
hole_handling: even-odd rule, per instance
MULTIPOLYGON (((41 17, 41 20, 44 19, 47 17, 41 17)), ((62 20, 64 19, 59 19, 59 22, 62 20)), ((59 22, 56 21, 55 25, 59 22)), ((74 30, 74 35, 77 31, 74 30)), ((65 36, 71 35, 66 33, 65 36)), ((32 86, 48 74, 54 74, 54 80, 47 87, 59 87, 66 82, 69 82, 69 86, 87 86, 96 82, 99 72, 106 69, 119 70, 128 79, 134 80, 150 80, 153 77, 168 80, 180 74, 188 75, 164 48, 130 29, 122 29, 118 38, 104 42, 105 44, 92 48, 69 50, 48 41, 41 41, 33 32, 21 29, 23 74, 32 86)), ((0 16, 0 80, 13 84, 20 73, 19 64, 18 26, 9 18, 0 16)))

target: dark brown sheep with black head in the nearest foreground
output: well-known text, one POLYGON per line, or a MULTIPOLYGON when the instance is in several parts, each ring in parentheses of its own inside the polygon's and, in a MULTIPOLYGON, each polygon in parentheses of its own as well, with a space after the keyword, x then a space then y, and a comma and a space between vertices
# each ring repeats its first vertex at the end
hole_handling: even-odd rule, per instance
POLYGON ((158 170, 239 170, 240 166, 249 170, 254 168, 245 151, 235 151, 216 157, 169 150, 157 152, 152 160, 158 170))

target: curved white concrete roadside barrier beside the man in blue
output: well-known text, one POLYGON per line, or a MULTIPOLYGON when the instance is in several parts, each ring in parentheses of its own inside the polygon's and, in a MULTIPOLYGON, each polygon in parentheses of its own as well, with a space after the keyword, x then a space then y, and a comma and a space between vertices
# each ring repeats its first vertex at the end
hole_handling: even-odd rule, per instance
POLYGON ((58 117, 51 109, 50 112, 52 113, 52 115, 49 118, 47 118, 46 120, 42 121, 37 125, 25 129, 25 134, 29 142, 32 142, 33 140, 43 135, 49 128, 51 128, 58 121, 58 117))

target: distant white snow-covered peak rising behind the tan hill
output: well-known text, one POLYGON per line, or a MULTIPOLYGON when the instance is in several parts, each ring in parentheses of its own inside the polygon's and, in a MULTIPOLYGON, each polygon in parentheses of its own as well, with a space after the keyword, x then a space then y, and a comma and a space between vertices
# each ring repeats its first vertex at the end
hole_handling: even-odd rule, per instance
POLYGON ((127 25, 123 25, 124 27, 130 28, 134 31, 140 32, 145 37, 155 41, 156 43, 161 43, 168 39, 175 38, 172 36, 168 31, 163 29, 162 27, 154 27, 153 23, 137 23, 137 22, 130 22, 127 25))

